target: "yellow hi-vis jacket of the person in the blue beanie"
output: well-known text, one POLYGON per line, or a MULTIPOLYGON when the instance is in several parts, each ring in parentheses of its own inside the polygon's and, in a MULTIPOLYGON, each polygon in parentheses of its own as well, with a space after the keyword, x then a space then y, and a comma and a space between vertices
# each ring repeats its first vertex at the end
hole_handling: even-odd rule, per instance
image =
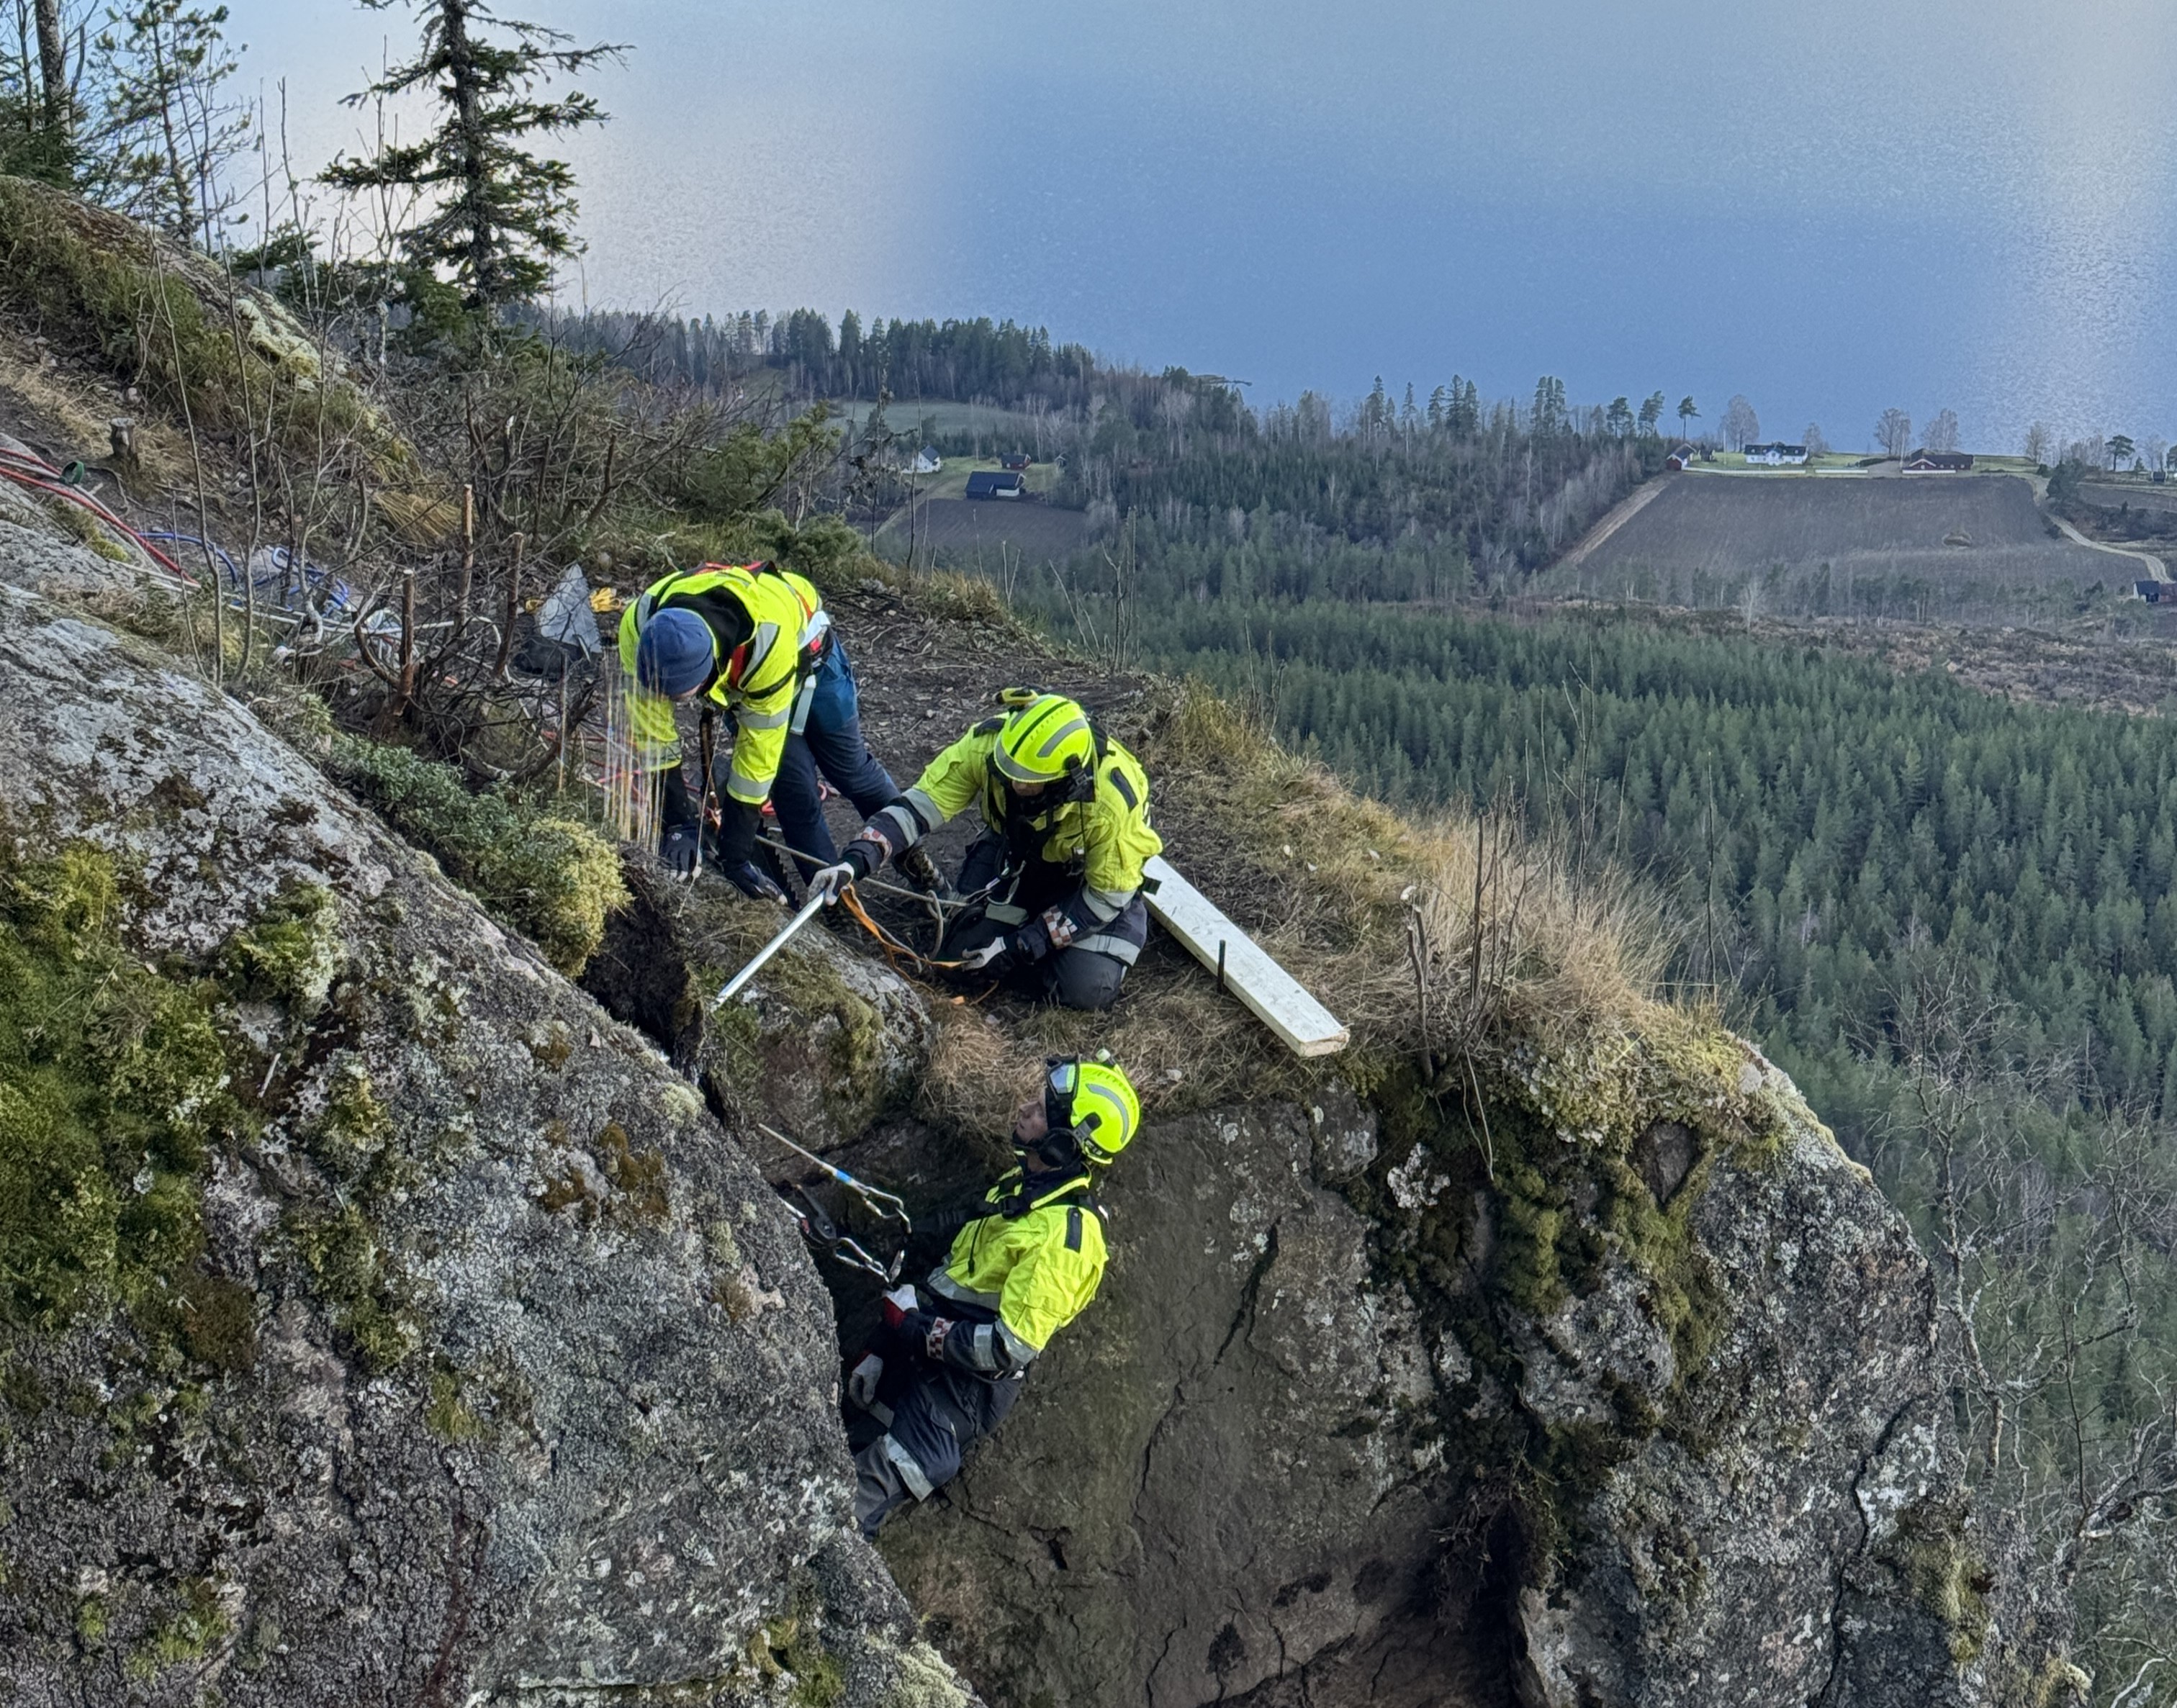
MULTIPOLYGON (((673 701, 649 694, 636 683, 642 624, 668 607, 694 611, 718 635, 721 664, 710 698, 731 709, 736 727, 725 792, 734 801, 760 807, 771 799, 771 783, 779 775, 779 755, 786 751, 786 731, 795 716, 795 690, 814 668, 823 635, 832 627, 823 596, 805 577, 753 564, 705 564, 653 581, 620 616, 620 668, 629 681, 636 764, 642 770, 671 770, 681 762, 673 701), (721 601, 738 605, 745 620, 731 620, 734 614, 721 611, 721 601), (727 648, 721 618, 727 620, 727 633, 747 629, 749 638, 727 648)), ((710 781, 703 779, 699 788, 710 788, 710 781)))

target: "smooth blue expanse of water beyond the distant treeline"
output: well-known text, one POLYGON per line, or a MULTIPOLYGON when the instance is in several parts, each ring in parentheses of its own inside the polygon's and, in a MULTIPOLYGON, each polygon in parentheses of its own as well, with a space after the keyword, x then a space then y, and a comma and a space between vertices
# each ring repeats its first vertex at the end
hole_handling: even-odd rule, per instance
MULTIPOLYGON (((340 96, 411 13, 231 9, 296 165, 361 146, 340 96)), ((1892 405, 1981 448, 2177 437, 2177 30, 2144 0, 507 11, 629 44, 562 146, 568 300, 1010 315, 1256 403, 1548 372, 1837 446, 1892 405)))

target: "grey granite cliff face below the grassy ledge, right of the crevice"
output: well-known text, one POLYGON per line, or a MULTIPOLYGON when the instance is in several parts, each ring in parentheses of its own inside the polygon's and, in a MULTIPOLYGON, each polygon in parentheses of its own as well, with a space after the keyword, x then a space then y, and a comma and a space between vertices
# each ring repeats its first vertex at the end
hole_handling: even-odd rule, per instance
POLYGON ((1102 1299, 882 1538, 991 1701, 1994 1699, 1905 1223, 1737 1040, 1596 1062, 1502 1064, 1493 1158, 1395 1084, 1136 1140, 1102 1299))

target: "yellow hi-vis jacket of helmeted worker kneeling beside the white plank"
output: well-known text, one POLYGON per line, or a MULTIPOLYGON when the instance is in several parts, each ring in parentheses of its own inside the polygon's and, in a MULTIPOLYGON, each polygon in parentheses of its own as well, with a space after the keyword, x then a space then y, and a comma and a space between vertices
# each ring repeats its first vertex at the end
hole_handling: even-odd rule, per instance
POLYGON ((1165 840, 1149 827, 1149 775, 1141 759, 1106 740, 1095 764, 1095 792, 1086 801, 1065 801, 1036 814, 1032 801, 1012 801, 1006 779, 991 762, 1004 727, 1004 718, 984 718, 932 759, 914 788, 871 818, 871 825, 895 855, 971 805, 982 809, 982 822, 999 836, 1025 825, 1036 857, 1080 868, 1084 918, 1075 925, 1110 925, 1141 892, 1141 868, 1149 855, 1165 851, 1165 840))

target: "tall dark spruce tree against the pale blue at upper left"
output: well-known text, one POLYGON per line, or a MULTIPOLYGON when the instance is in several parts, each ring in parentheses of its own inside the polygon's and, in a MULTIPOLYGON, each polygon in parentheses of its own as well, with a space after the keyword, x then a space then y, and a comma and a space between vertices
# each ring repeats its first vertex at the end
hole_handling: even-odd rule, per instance
MULTIPOLYGON (((394 0, 364 0, 383 11, 394 0)), ((494 315, 533 298, 551 281, 551 261, 577 252, 575 174, 566 161, 540 159, 533 137, 557 137, 603 124, 596 100, 570 91, 540 98, 553 76, 577 76, 627 48, 570 48, 562 30, 496 17, 479 0, 414 0, 422 41, 414 59, 394 65, 348 102, 401 98, 429 89, 444 117, 420 141, 383 148, 368 159, 342 154, 324 181, 348 191, 414 191, 420 218, 398 233, 414 272, 411 294, 427 281, 451 279, 470 313, 494 315)))

